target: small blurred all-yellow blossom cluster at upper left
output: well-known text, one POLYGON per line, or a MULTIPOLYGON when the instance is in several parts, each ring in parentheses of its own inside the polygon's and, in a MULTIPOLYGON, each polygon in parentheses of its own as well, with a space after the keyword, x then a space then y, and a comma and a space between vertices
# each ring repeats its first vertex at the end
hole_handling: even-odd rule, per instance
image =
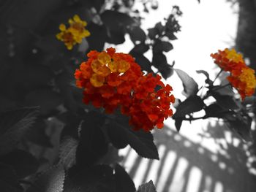
POLYGON ((90 32, 86 30, 85 26, 87 26, 86 21, 81 20, 78 15, 75 15, 73 19, 69 19, 69 28, 61 23, 59 26, 61 32, 56 37, 61 42, 64 42, 68 50, 72 50, 72 47, 80 44, 83 38, 89 37, 90 32))

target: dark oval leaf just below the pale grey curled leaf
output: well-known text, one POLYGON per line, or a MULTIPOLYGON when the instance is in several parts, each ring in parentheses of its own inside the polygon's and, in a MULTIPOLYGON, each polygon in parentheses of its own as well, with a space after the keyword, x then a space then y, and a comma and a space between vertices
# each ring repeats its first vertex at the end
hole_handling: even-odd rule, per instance
POLYGON ((182 118, 192 112, 198 112, 200 110, 203 110, 204 106, 205 104, 200 96, 189 96, 185 101, 181 102, 178 105, 177 110, 173 115, 173 118, 182 118))

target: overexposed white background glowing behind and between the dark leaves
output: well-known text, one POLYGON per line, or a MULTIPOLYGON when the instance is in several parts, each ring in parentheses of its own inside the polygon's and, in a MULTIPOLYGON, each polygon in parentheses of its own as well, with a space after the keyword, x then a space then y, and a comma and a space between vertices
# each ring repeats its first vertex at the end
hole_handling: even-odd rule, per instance
MULTIPOLYGON (((203 85, 205 77, 195 71, 206 70, 211 79, 214 79, 218 69, 210 54, 216 53, 218 49, 222 50, 234 45, 238 8, 232 8, 231 4, 225 0, 201 0, 200 4, 197 0, 159 0, 157 10, 150 10, 149 14, 142 14, 142 17, 145 18, 142 28, 152 28, 157 22, 163 21, 170 15, 173 5, 178 5, 183 15, 179 18, 181 31, 176 34, 178 39, 172 42, 174 49, 166 54, 167 61, 171 64, 175 60, 175 68, 184 70, 199 82, 199 85, 203 85)), ((143 9, 140 4, 136 6, 138 9, 143 9)), ((128 53, 131 50, 132 42, 128 35, 126 40, 124 45, 115 46, 117 52, 128 53)), ((150 51, 146 53, 146 57, 151 60, 150 51)), ((173 94, 176 98, 184 99, 184 96, 181 95, 183 87, 176 74, 170 77, 167 83, 173 86, 173 94)), ((174 128, 171 118, 165 123, 174 128)), ((206 126, 207 123, 207 120, 197 120, 192 124, 184 122, 180 133, 194 142, 201 142, 197 134, 202 132, 203 126, 206 126)), ((202 145, 213 152, 217 150, 213 139, 205 139, 202 145)))

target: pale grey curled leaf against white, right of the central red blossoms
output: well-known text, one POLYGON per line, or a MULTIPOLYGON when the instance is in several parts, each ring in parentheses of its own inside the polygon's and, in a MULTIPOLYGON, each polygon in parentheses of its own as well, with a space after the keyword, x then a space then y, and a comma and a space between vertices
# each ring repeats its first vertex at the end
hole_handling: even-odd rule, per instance
POLYGON ((190 77, 186 72, 182 71, 181 69, 175 69, 175 71, 183 83, 185 95, 195 95, 198 91, 197 82, 195 82, 195 80, 192 77, 190 77))

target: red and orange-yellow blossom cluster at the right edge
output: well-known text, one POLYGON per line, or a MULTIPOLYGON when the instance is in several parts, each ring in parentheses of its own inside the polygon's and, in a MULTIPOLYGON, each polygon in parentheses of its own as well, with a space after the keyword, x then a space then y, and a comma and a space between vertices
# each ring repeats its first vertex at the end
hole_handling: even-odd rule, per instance
POLYGON ((243 56, 236 53, 236 50, 219 50, 218 53, 211 54, 217 64, 225 72, 230 72, 227 80, 238 90, 241 99, 252 96, 255 93, 256 79, 255 70, 246 66, 243 56))

